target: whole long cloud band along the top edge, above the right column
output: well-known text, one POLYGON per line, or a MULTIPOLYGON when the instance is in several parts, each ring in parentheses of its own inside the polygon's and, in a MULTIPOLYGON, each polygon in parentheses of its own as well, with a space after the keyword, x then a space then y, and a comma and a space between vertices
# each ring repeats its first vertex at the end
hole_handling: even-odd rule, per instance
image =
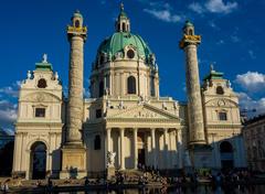
POLYGON ((204 12, 227 14, 234 11, 237 7, 239 4, 235 1, 227 1, 225 3, 223 0, 208 0, 204 4, 201 4, 199 2, 192 2, 189 4, 189 9, 199 14, 202 14, 204 12))

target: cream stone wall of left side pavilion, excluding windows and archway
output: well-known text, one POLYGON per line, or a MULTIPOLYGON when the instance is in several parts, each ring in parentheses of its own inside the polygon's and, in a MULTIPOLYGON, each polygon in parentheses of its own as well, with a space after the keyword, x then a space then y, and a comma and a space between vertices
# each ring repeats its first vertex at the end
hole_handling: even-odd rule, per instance
POLYGON ((60 171, 60 148, 62 143, 62 86, 52 71, 34 71, 33 75, 21 85, 19 95, 18 120, 15 123, 15 141, 13 173, 25 172, 31 179, 31 147, 41 141, 46 146, 46 171, 60 171), (46 88, 38 88, 40 78, 46 80, 46 88), (45 117, 35 117, 34 108, 44 107, 45 117))

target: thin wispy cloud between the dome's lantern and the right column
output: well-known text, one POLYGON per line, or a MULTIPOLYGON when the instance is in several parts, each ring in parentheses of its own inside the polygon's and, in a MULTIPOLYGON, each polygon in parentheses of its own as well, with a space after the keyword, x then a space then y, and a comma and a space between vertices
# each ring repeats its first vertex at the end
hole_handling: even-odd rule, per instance
POLYGON ((144 9, 144 11, 165 22, 176 23, 182 21, 180 15, 171 13, 170 10, 144 9))

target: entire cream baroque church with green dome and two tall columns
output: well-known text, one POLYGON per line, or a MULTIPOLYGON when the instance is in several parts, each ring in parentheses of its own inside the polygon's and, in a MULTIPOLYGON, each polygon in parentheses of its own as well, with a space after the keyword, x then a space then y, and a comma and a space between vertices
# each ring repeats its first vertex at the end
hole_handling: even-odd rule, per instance
POLYGON ((21 85, 13 175, 42 179, 97 176, 115 170, 153 166, 246 166, 239 99, 223 74, 211 67, 200 85, 197 47, 201 36, 186 22, 188 103, 159 95, 156 56, 121 6, 116 32, 105 39, 91 72, 91 97, 83 97, 87 30, 75 12, 67 26, 68 98, 53 66, 43 61, 21 85))

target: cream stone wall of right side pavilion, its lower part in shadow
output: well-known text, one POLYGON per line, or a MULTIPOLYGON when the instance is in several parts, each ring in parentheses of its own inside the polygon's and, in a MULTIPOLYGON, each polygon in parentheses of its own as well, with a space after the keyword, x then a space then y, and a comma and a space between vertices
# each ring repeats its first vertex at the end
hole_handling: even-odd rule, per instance
POLYGON ((245 168, 245 149, 242 141, 242 125, 240 118, 239 97, 226 79, 205 80, 202 91, 202 103, 208 143, 212 150, 212 168, 221 169, 220 144, 227 141, 233 147, 233 163, 235 168, 245 168), (224 94, 216 94, 221 86, 224 94), (226 112, 227 119, 220 120, 219 112, 226 112))

